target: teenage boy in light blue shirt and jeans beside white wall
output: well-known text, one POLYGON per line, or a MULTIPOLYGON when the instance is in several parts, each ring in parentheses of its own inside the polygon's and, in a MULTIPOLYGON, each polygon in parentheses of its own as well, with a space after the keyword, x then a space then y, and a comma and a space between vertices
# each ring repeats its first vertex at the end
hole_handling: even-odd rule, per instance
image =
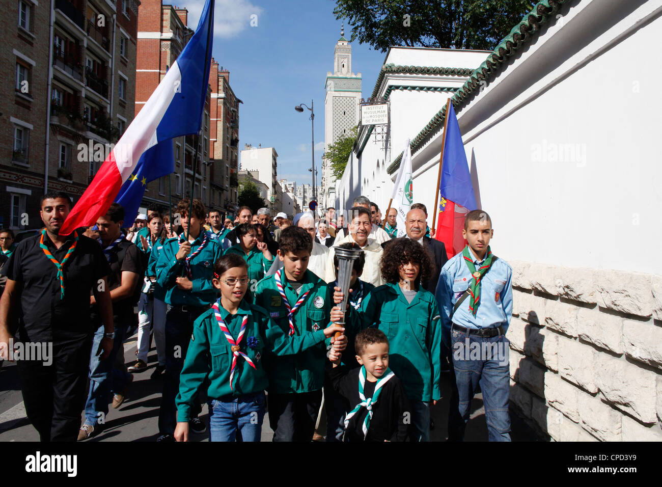
POLYGON ((450 349, 455 379, 449 440, 463 440, 471 400, 480 386, 489 441, 510 441, 506 331, 512 313, 512 268, 490 249, 494 230, 485 211, 467 213, 462 235, 467 246, 446 262, 436 290, 442 339, 450 349))

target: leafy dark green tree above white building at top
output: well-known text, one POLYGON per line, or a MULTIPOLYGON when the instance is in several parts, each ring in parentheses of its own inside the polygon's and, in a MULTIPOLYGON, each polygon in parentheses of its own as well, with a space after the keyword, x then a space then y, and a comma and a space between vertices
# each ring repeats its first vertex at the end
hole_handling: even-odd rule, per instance
POLYGON ((336 0, 350 41, 389 46, 493 50, 528 13, 531 0, 336 0))

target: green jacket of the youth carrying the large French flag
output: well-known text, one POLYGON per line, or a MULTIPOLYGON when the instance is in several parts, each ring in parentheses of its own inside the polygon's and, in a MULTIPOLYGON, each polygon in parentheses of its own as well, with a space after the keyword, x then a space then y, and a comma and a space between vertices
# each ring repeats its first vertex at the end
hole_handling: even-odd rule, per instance
MULTIPOLYGON (((191 253, 195 252, 202 243, 204 230, 191 244, 191 253)), ((166 290, 166 303, 169 305, 204 306, 216 301, 218 294, 211 280, 214 274, 214 262, 222 257, 223 250, 220 243, 214 239, 207 239, 205 248, 191 260, 191 274, 193 274, 193 289, 185 291, 177 287, 176 279, 185 276, 184 261, 177 260, 175 255, 179 251, 179 241, 173 237, 167 239, 160 250, 156 262, 156 281, 166 290)))

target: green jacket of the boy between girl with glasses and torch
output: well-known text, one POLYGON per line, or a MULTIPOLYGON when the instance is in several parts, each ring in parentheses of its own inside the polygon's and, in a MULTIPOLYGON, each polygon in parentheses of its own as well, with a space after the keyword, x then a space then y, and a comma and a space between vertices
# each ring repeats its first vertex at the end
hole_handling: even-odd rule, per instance
MULTIPOLYGON (((297 299, 310 290, 310 294, 297 309, 292 319, 295 336, 328 326, 333 296, 326 283, 310 270, 306 270, 301 294, 297 294, 285 279, 284 271, 283 280, 285 281, 283 283, 285 296, 291 306, 294 306, 297 299)), ((255 303, 267 310, 269 316, 281 327, 285 335, 289 333, 287 309, 276 287, 274 276, 268 276, 258 282, 255 303)), ((269 374, 269 392, 274 394, 312 392, 320 390, 324 385, 324 364, 326 363, 326 345, 324 343, 318 343, 297 355, 275 356, 270 353, 265 355, 265 368, 269 374)))

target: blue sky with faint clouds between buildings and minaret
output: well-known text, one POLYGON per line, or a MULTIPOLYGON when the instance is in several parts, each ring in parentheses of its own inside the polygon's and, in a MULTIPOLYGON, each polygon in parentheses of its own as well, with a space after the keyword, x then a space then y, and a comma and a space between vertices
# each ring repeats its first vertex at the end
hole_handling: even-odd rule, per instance
MULTIPOLYGON (((204 0, 175 3, 198 23, 204 0)), ((334 0, 216 0, 213 56, 230 70, 239 108, 239 147, 273 146, 278 178, 310 184, 310 112, 295 105, 314 101, 315 167, 322 177, 324 81, 333 70, 340 24, 334 0), (257 27, 251 16, 257 15, 257 27)), ((347 26, 346 26, 347 27, 347 26)), ((350 29, 345 30, 346 38, 350 29)), ((363 97, 372 93, 385 53, 352 43, 352 71, 361 73, 363 97)))

